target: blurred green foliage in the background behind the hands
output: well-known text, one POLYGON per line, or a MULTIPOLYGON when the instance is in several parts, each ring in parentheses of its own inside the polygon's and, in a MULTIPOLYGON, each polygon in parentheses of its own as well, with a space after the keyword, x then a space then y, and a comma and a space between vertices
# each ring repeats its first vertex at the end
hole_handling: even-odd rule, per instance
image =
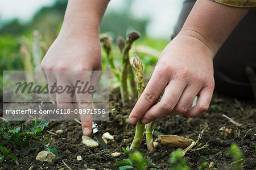
MULTIPOLYGON (((128 2, 129 3, 129 2, 128 2)), ((129 4, 128 4, 129 6, 129 4)), ((34 17, 26 23, 13 19, 8 23, 1 24, 0 21, 0 67, 2 71, 27 70, 35 68, 33 62, 34 32, 39 32, 40 57, 46 54, 52 42, 56 39, 63 22, 67 1, 56 0, 53 6, 42 7, 34 17), (30 64, 28 67, 26 65, 30 64)), ((144 63, 146 75, 151 75, 160 52, 168 44, 168 40, 150 38, 146 35, 148 19, 137 19, 130 15, 130 9, 110 11, 102 19, 100 33, 106 33, 113 38, 115 64, 121 67, 121 54, 115 44, 118 35, 126 38, 126 35, 136 30, 141 33, 141 38, 135 42, 131 50, 130 58, 136 52, 144 63)), ((102 52, 102 59, 105 60, 102 52)), ((108 66, 104 66, 108 69, 108 66)), ((1 84, 2 84, 1 72, 1 84)), ((2 86, 1 89, 2 91, 2 86)))

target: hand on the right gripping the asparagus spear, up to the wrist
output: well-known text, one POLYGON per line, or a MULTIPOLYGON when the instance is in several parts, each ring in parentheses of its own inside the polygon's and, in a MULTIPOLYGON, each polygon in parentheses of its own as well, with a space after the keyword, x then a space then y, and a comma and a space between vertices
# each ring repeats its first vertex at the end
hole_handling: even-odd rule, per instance
POLYGON ((205 44, 185 32, 167 45, 131 111, 130 123, 141 119, 146 124, 163 115, 196 117, 207 111, 214 89, 214 53, 205 44), (154 105, 164 89, 160 102, 154 105), (196 96, 196 106, 189 109, 196 96))

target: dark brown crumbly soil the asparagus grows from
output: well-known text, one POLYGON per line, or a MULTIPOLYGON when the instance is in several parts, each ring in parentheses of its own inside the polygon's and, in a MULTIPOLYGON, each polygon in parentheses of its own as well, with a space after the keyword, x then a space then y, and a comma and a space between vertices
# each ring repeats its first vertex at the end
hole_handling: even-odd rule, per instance
MULTIPOLYGON (((57 136, 51 135, 52 143, 54 143, 53 146, 59 152, 59 156, 52 163, 43 163, 35 160, 36 154, 28 156, 18 155, 14 147, 8 146, 18 156, 19 164, 15 160, 8 159, 0 164, 0 169, 68 169, 64 163, 72 169, 118 169, 112 167, 116 159, 110 154, 121 152, 120 160, 127 158, 127 155, 123 154, 122 147, 126 148, 126 146, 131 144, 134 136, 134 126, 128 123, 128 115, 131 109, 127 109, 127 106, 122 106, 119 89, 113 89, 111 92, 110 121, 96 122, 100 128, 100 134, 110 132, 110 134, 114 135, 115 140, 108 140, 110 150, 102 150, 100 147, 89 149, 82 144, 81 126, 75 121, 51 121, 43 130, 43 136, 49 135, 47 131, 64 131, 63 134, 58 134, 57 136), (79 155, 82 157, 80 161, 77 160, 79 155)), ((233 140, 240 145, 243 153, 243 168, 255 169, 255 113, 255 101, 237 100, 214 93, 207 113, 193 119, 182 115, 174 117, 165 116, 157 119, 154 122, 154 126, 156 131, 163 134, 174 134, 193 140, 197 139, 202 125, 208 126, 201 138, 201 146, 207 143, 209 146, 196 152, 188 152, 185 155, 187 165, 191 168, 197 169, 201 163, 207 161, 208 164, 213 162, 212 168, 233 169, 230 164, 234 162, 234 159, 228 155, 230 141, 233 140), (242 126, 234 125, 223 117, 222 114, 241 123, 242 126), (220 131, 219 129, 224 125, 224 131, 220 131), (221 140, 224 140, 224 142, 220 142, 221 140)), ((95 139, 93 135, 90 137, 95 139)), ((154 139, 156 138, 154 136, 154 139)), ((159 144, 154 151, 147 151, 145 139, 143 139, 140 148, 144 156, 150 157, 154 164, 160 165, 160 169, 170 169, 172 167, 169 159, 171 152, 175 150, 176 148, 174 147, 159 144)), ((147 169, 150 169, 150 167, 147 169)))

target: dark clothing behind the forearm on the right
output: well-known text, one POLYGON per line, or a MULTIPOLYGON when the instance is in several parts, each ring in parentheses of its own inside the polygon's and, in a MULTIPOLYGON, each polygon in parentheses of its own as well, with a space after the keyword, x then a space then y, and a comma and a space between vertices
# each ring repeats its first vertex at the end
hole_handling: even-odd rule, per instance
MULTIPOLYGON (((185 1, 172 39, 179 33, 196 0, 185 1)), ((256 8, 241 20, 213 60, 215 90, 233 97, 253 98, 245 73, 246 65, 256 71, 256 8)))

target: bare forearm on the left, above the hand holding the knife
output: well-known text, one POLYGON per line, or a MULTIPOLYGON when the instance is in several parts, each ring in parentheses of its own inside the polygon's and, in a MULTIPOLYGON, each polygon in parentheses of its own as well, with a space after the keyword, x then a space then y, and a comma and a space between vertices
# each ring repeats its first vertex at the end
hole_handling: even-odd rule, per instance
POLYGON ((69 0, 61 32, 98 34, 108 3, 109 0, 69 0))

